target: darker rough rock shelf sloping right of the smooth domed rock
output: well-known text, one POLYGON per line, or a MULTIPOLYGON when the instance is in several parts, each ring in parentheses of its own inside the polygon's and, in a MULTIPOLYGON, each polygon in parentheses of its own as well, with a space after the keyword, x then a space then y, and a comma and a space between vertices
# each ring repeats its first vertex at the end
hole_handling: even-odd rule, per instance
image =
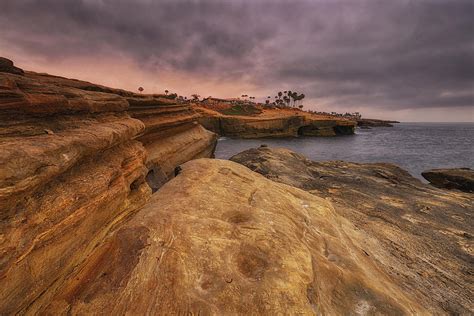
POLYGON ((268 147, 231 159, 330 201, 364 236, 366 259, 423 314, 473 313, 472 195, 433 188, 391 164, 313 162, 268 147))

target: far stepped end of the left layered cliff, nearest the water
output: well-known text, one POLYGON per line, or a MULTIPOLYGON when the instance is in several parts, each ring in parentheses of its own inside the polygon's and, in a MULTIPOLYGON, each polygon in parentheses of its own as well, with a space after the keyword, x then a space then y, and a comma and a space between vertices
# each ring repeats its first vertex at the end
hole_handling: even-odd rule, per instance
POLYGON ((140 140, 147 152, 148 184, 158 189, 174 176, 176 166, 196 158, 212 157, 217 135, 206 130, 188 106, 164 98, 128 98, 130 114, 145 124, 140 140))

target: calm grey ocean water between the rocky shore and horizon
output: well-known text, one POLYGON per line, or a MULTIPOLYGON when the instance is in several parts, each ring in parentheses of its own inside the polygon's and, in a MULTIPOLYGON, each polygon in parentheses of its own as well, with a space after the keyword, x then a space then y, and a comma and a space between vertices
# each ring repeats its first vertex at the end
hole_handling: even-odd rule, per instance
POLYGON ((219 139, 216 158, 248 148, 285 147, 315 161, 391 162, 422 179, 431 168, 474 169, 474 123, 400 123, 357 129, 355 135, 282 139, 219 139))

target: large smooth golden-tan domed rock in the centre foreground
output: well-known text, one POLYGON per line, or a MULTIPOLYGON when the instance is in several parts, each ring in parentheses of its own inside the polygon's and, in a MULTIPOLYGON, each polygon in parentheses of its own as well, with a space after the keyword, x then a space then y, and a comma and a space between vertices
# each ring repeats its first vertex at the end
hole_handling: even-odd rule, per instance
POLYGON ((323 198, 222 160, 183 165, 28 307, 50 314, 414 314, 323 198))

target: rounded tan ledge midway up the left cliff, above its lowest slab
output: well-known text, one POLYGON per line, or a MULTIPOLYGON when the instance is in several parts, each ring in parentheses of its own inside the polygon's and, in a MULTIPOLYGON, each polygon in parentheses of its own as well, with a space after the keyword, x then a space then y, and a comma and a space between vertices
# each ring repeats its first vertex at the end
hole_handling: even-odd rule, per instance
POLYGON ((128 142, 143 130, 142 122, 125 114, 41 120, 12 117, 3 121, 0 123, 0 218, 14 212, 22 197, 41 184, 87 157, 128 142))

